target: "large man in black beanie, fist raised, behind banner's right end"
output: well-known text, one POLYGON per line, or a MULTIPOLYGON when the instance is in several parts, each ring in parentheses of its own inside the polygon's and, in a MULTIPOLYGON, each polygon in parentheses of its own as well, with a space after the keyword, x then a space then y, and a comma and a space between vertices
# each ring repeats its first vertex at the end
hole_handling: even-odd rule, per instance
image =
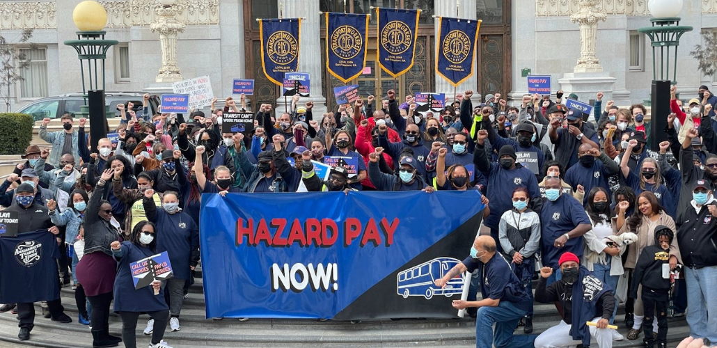
POLYGON ((488 131, 485 129, 478 131, 478 142, 475 144, 473 162, 478 171, 488 177, 486 195, 490 200, 490 215, 488 219, 485 219, 483 225, 490 228, 490 236, 495 239, 498 252, 503 253, 498 238, 500 216, 503 215, 503 212, 513 209, 513 197, 505 192, 513 192, 516 187, 525 187, 530 193, 531 209, 535 212, 540 212, 543 201, 540 199, 540 189, 535 174, 522 164, 516 163, 516 150, 513 149, 513 146, 505 145, 500 148, 498 151, 500 165, 497 166, 488 160, 488 154, 485 152, 486 138, 488 138, 488 131))

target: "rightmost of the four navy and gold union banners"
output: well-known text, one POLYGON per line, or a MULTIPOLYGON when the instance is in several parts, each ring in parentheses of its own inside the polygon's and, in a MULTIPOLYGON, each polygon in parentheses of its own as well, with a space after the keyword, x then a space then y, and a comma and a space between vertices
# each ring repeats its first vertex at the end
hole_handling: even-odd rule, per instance
POLYGON ((440 17, 436 72, 453 87, 473 75, 480 19, 440 17))

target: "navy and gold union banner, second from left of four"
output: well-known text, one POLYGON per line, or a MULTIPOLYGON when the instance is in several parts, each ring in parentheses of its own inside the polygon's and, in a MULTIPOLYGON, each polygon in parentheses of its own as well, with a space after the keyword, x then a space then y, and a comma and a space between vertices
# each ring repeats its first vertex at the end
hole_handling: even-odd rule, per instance
POLYGON ((368 14, 326 13, 326 69, 343 83, 366 67, 368 14))

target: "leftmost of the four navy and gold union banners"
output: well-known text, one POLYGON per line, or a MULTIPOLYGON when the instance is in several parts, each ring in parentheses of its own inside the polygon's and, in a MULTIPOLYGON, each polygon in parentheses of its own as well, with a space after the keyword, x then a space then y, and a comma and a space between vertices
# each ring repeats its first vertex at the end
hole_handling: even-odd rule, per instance
POLYGON ((267 78, 283 85, 284 74, 299 66, 301 19, 260 19, 262 69, 267 78))

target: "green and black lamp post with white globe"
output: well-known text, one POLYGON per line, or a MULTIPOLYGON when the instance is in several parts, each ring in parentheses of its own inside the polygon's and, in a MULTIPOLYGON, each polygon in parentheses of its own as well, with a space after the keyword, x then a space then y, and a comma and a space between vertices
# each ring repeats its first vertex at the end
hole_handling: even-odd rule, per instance
POLYGON ((682 11, 683 0, 649 0, 647 9, 652 14, 652 27, 637 29, 638 32, 650 37, 652 42, 652 94, 650 106, 650 136, 652 150, 660 149, 660 142, 667 140, 663 132, 667 126, 667 117, 670 114, 670 85, 677 83, 677 48, 680 37, 685 32, 691 32, 692 27, 681 26, 677 17, 682 11), (672 66, 672 80, 670 80, 670 55, 674 50, 672 66), (659 70, 657 55, 660 55, 659 70), (659 75, 657 72, 660 72, 659 75))

